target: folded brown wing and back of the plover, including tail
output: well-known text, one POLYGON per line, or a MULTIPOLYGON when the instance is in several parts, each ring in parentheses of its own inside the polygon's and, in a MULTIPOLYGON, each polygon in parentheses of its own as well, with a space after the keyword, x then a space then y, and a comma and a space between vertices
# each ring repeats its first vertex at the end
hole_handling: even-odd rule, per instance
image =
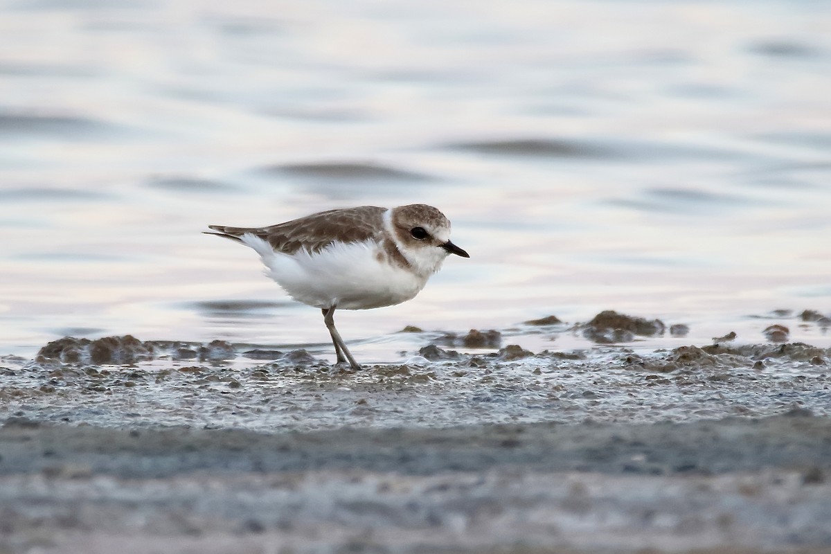
POLYGON ((308 252, 319 252, 335 240, 342 243, 360 243, 370 238, 380 240, 384 212, 386 208, 376 206, 330 209, 269 227, 209 225, 209 228, 219 233, 208 234, 238 241, 243 234, 251 233, 267 240, 278 252, 293 254, 300 248, 305 248, 308 252))

